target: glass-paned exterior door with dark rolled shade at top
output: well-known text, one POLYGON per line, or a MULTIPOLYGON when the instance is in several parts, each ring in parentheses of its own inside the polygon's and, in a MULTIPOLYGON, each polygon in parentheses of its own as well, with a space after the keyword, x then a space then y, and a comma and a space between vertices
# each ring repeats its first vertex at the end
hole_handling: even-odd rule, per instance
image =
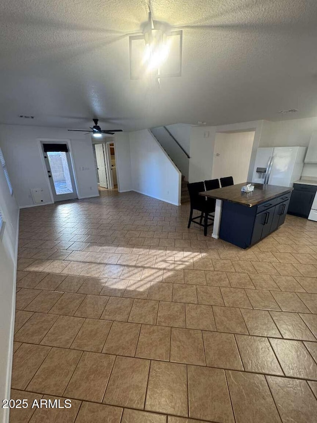
POLYGON ((77 198, 68 145, 42 142, 42 149, 54 202, 77 198))

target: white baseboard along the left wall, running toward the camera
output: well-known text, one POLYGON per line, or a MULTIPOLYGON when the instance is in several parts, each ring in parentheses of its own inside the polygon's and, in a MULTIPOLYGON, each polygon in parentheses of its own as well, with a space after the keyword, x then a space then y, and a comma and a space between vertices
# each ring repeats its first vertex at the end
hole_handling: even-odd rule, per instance
MULTIPOLYGON (((15 251, 14 251, 14 272, 13 272, 13 292, 12 292, 12 312, 11 312, 11 327, 10 327, 10 338, 9 338, 9 350, 7 358, 6 368, 6 386, 5 386, 5 398, 10 399, 11 391, 11 376, 12 376, 12 361, 13 361, 13 339, 14 339, 14 320, 15 320, 15 294, 16 294, 16 272, 17 272, 17 260, 18 260, 18 243, 19 243, 19 221, 20 221, 20 210, 18 210, 17 219, 17 231, 15 240, 15 251)), ((9 409, 4 409, 3 423, 9 423, 9 409)))

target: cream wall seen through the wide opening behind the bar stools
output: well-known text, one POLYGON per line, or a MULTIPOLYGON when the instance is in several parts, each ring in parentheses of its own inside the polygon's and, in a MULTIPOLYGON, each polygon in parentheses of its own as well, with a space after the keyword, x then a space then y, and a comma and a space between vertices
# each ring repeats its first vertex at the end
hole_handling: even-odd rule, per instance
POLYGON ((234 183, 247 181, 254 135, 255 131, 216 133, 211 179, 232 176, 234 183))

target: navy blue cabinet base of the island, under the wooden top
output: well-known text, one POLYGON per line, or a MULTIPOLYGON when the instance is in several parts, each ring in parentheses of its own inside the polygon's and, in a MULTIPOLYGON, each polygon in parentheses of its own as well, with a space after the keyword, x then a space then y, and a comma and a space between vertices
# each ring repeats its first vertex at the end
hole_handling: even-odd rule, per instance
POLYGON ((291 192, 254 207, 223 201, 219 237, 241 248, 259 242, 285 222, 291 192))

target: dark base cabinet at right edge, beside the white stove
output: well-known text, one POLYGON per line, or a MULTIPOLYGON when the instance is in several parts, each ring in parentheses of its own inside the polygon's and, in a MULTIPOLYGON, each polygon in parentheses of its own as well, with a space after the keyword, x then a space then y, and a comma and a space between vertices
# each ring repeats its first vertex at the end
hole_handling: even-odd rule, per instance
POLYGON ((317 191, 316 185, 294 183, 294 191, 289 203, 288 213, 308 218, 317 191))

